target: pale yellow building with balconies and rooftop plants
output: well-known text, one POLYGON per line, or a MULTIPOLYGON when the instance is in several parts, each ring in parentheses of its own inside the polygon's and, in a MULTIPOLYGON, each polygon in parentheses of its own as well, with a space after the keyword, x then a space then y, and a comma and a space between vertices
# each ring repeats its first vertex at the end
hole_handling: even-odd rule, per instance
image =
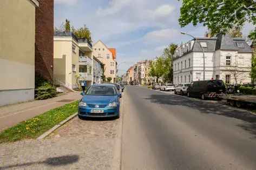
POLYGON ((93 80, 93 49, 87 39, 77 39, 72 32, 55 32, 54 81, 77 89, 82 80, 90 86, 93 80))

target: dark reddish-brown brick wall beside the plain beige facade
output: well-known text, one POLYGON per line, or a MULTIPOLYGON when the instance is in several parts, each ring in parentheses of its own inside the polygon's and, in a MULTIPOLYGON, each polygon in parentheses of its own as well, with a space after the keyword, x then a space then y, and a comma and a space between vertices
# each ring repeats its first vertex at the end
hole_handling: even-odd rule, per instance
POLYGON ((53 79, 54 0, 40 0, 36 8, 35 72, 53 79))

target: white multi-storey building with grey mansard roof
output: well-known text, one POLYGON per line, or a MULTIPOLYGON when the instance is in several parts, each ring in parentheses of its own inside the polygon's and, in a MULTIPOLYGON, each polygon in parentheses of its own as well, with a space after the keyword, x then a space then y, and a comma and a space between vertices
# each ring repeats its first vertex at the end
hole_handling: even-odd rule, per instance
POLYGON ((181 44, 175 51, 173 62, 174 84, 191 83, 204 79, 221 79, 227 84, 251 83, 252 50, 245 38, 218 35, 213 38, 196 38, 181 44))

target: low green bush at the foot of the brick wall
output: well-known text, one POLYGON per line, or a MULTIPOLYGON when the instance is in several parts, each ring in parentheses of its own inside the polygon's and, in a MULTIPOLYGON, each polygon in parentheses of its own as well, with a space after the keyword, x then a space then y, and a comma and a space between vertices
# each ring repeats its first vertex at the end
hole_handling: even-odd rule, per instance
POLYGON ((44 100, 56 97, 57 91, 54 86, 50 83, 43 83, 42 86, 38 87, 35 90, 35 99, 36 100, 44 100))

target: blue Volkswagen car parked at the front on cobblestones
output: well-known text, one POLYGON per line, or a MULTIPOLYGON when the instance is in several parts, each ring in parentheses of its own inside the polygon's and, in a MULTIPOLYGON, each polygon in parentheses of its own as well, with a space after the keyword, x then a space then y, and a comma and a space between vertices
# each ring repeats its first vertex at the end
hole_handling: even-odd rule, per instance
POLYGON ((120 115, 119 93, 113 84, 94 84, 89 87, 78 104, 78 117, 115 117, 120 115))

